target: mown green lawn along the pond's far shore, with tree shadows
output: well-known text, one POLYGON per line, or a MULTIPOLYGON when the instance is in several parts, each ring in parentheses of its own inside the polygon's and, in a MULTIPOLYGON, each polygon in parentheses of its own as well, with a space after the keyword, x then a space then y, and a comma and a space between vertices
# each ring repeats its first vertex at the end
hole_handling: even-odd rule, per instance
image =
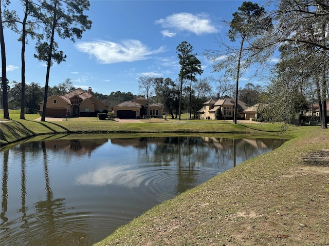
MULTIPOLYGON (((0 114, 0 118, 1 118, 0 114)), ((67 133, 240 133, 240 134, 280 134, 280 124, 231 124, 220 120, 197 120, 182 117, 177 119, 151 119, 138 123, 122 123, 113 120, 99 120, 95 117, 68 118, 61 121, 35 121, 37 114, 26 114, 20 119, 19 110, 10 111, 10 120, 2 120, 0 125, 0 144, 43 134, 67 133)), ((290 129, 290 135, 294 134, 290 129)))

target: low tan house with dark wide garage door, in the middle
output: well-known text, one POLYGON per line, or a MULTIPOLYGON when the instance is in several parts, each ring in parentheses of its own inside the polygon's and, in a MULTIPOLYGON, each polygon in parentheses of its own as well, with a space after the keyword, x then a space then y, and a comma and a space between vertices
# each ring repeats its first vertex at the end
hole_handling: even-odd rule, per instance
POLYGON ((163 117, 163 105, 160 103, 148 104, 148 100, 143 96, 115 104, 111 110, 117 118, 163 117))

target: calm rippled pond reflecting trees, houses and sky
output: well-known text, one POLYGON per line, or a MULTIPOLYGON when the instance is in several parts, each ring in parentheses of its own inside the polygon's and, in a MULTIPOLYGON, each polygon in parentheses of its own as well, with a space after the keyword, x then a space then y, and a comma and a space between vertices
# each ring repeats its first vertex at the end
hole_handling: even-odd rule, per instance
POLYGON ((91 245, 162 201, 285 141, 64 138, 2 149, 1 245, 91 245))

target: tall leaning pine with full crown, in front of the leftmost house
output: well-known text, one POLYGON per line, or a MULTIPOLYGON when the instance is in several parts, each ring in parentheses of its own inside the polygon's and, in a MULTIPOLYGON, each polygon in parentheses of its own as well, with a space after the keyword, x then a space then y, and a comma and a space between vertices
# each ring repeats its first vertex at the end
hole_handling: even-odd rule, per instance
POLYGON ((41 14, 45 25, 44 34, 47 41, 39 40, 36 45, 36 58, 47 63, 44 104, 41 121, 45 121, 48 97, 49 73, 52 60, 60 64, 65 61, 66 55, 58 51, 58 43, 55 42, 55 32, 60 38, 69 38, 75 42, 81 38, 82 33, 92 27, 92 22, 84 11, 89 9, 87 0, 43 0, 41 2, 43 12, 41 14))

